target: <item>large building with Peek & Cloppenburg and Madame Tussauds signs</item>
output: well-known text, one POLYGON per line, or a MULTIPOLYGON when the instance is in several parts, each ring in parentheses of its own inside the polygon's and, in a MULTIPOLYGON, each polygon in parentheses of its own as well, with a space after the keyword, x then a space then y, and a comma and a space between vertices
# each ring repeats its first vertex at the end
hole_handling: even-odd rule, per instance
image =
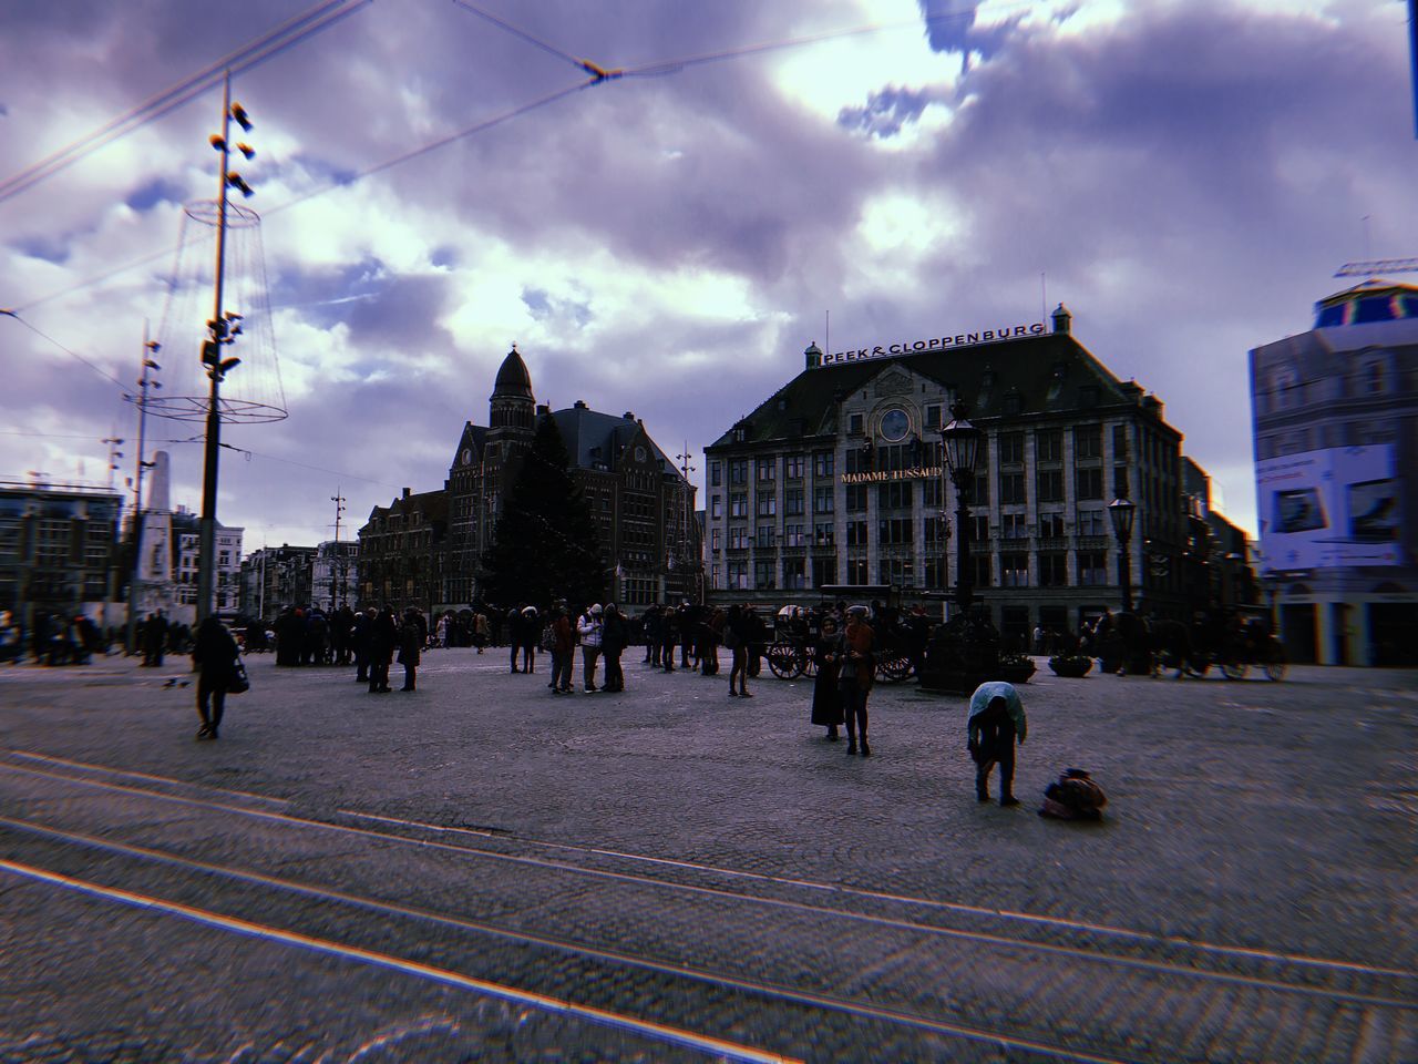
POLYGON ((1181 434, 1161 401, 1044 323, 824 355, 706 448, 705 558, 720 602, 818 602, 825 584, 956 586, 970 536, 976 596, 1001 633, 1076 631, 1122 604, 1106 512, 1136 504, 1132 599, 1190 616, 1181 434), (983 431, 970 523, 940 428, 963 400, 983 431))

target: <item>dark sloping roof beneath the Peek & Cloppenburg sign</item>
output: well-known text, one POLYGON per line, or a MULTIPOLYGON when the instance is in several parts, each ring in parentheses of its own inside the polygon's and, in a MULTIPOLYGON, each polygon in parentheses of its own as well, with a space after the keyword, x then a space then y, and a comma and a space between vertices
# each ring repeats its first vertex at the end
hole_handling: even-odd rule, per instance
MULTIPOLYGON (((933 380, 964 399, 971 421, 1005 417, 1005 400, 1018 396, 1008 417, 1051 411, 1133 406, 1141 387, 1120 382, 1068 333, 832 362, 805 369, 769 396, 746 421, 743 443, 837 431, 838 403, 873 377, 900 367, 933 380), (1086 394, 1085 389, 1096 390, 1086 394)), ((736 443, 733 430, 712 445, 736 443)))

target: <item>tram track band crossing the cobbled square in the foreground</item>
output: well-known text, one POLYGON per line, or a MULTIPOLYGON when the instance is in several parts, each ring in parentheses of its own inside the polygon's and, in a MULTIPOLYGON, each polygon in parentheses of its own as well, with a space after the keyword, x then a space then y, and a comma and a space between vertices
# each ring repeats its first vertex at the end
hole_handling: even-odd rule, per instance
MULTIPOLYGON (((1384 1017, 1383 1024, 1391 1033, 1385 1043, 1394 1047, 1394 1054, 1387 1058, 1402 1060, 1402 1046, 1411 1044, 1415 1037, 1414 1010, 1418 1003, 1414 1002, 1412 987, 1418 976, 1397 968, 1285 951, 1193 943, 1058 916, 842 888, 604 847, 527 840, 495 830, 396 821, 349 809, 335 816, 356 820, 360 826, 335 823, 299 816, 294 804, 282 799, 265 800, 247 792, 167 777, 135 782, 140 773, 79 762, 60 763, 58 759, 27 752, 10 750, 0 767, 7 769, 11 779, 18 773, 41 790, 51 789, 40 802, 43 820, 37 814, 0 820, 11 855, 16 848, 34 854, 37 863, 33 867, 68 865, 67 871, 55 868, 54 874, 84 871, 85 881, 102 871, 112 880, 94 880, 101 890, 150 892, 152 897, 167 897, 173 904, 187 904, 183 897, 193 891, 190 882, 182 881, 183 877, 200 877, 204 885, 199 894, 214 891, 221 897, 224 918, 240 919, 252 905, 274 907, 285 914, 282 919, 291 933, 301 933, 301 928, 312 919, 316 925, 333 921, 340 942, 373 952, 387 948, 390 956, 418 952, 428 941, 447 945, 450 938, 459 936, 472 942, 496 939, 518 951, 530 951, 537 958, 530 968, 519 968, 522 982, 529 986, 545 976, 537 969, 556 970, 571 965, 631 970, 631 983, 648 979, 662 990, 668 987, 666 993, 692 999, 693 1007, 710 1017, 722 1012, 718 997, 729 994, 733 1007, 723 1019, 730 1027, 735 1026, 736 1009, 743 1007, 740 999, 747 996, 756 1002, 750 1013, 776 1009, 793 1013, 794 1021, 786 1024, 787 1030, 811 1030, 813 1014, 827 1010, 855 1023, 909 1029, 980 1046, 1010 1046, 1038 1060, 1187 1060, 1191 1058, 1188 1033, 1170 1030, 1163 1034, 1161 1029, 1217 1029, 1221 1031, 1217 1037, 1244 1047, 1248 1043, 1239 1037, 1241 1029, 1246 1027, 1248 1016, 1258 1012, 1273 1013, 1283 1021, 1282 1027, 1289 1024, 1297 1034, 1307 1030, 1309 1041, 1293 1038, 1293 1048, 1305 1053, 1248 1057, 1244 1055, 1246 1050, 1238 1050, 1242 1055, 1235 1055, 1236 1060, 1347 1058, 1332 1055, 1330 1043, 1334 1043, 1333 1053, 1339 1053, 1339 1047, 1373 1029, 1373 1016, 1384 1017), (104 779, 105 773, 112 775, 104 779), (180 793, 183 790, 187 793, 180 793), (265 841, 245 858, 237 853, 230 860, 204 860, 199 853, 119 838, 111 829, 99 837, 79 830, 75 823, 64 823, 65 817, 71 821, 92 819, 88 807, 94 803, 85 802, 85 792, 136 807, 145 803, 173 807, 191 817, 197 829, 211 816, 244 816, 265 841), (267 807, 252 807, 238 796, 258 799, 267 807), (303 846, 309 846, 308 838, 313 833, 353 844, 349 853, 342 851, 333 858, 339 875, 349 885, 326 881, 335 874, 333 868, 322 868, 326 872, 323 877, 296 878, 261 867, 261 857, 269 853, 272 840, 289 846, 298 836, 306 840, 303 846), (47 841, 37 841, 40 838, 47 841), (468 905, 474 909, 482 905, 485 912, 481 916, 459 912, 437 891, 431 891, 423 902, 417 901, 418 890, 401 892, 401 898, 404 894, 414 895, 408 904, 381 897, 387 882, 380 881, 374 854, 383 861, 393 850, 407 851, 398 861, 410 868, 417 865, 417 875, 430 880, 469 878, 469 892, 479 897, 471 898, 468 905), (587 863, 611 863, 635 871, 547 860, 527 851, 562 851, 563 857, 574 854, 587 863), (96 860, 99 853, 106 857, 96 860), (374 864, 369 864, 372 861, 374 864), (153 865, 167 871, 155 872, 153 865), (579 926, 587 926, 590 932, 549 933, 547 928, 557 921, 547 918, 545 905, 526 899, 518 905, 513 897, 493 898, 498 890, 489 882, 496 875, 486 870, 496 865, 516 871, 518 887, 510 894, 554 898, 556 905, 580 914, 579 926), (716 881, 716 885, 708 885, 705 880, 716 881), (594 890, 587 884, 594 884, 594 890), (753 890, 746 890, 750 885, 753 890), (274 901, 278 894, 284 901, 274 901), (813 901, 801 901, 804 895, 813 901), (302 901, 294 904, 289 901, 292 897, 302 901), (607 911, 613 918, 605 918, 607 911), (654 915, 635 915, 641 912, 654 915), (370 922, 372 914, 398 926, 377 931, 362 926, 362 921, 366 925, 370 922), (942 915, 991 921, 994 929, 983 932, 947 926, 940 922, 942 915), (651 933, 647 921, 664 924, 668 938, 651 933), (827 933, 824 922, 830 928, 827 933), (703 935, 702 928, 696 932, 696 925, 727 926, 726 936, 732 941, 719 945, 696 941, 696 935, 703 935), (1028 935, 1007 933, 1001 928, 1027 929, 1028 935), (1041 929, 1055 941, 1041 941, 1041 929), (366 941, 370 933, 376 936, 373 942, 366 941), (811 965, 800 965, 808 970, 794 970, 791 946, 784 956, 784 949, 771 945, 774 938, 788 943, 828 939, 832 949, 813 953, 811 965), (1134 955, 1117 952, 1120 942, 1134 955), (1151 956, 1146 955, 1149 952, 1151 956), (834 969, 834 958, 839 953, 859 963, 834 969), (1159 959, 1159 955, 1168 959, 1159 959), (1190 963, 1178 963, 1173 959, 1177 956, 1190 963), (1245 966, 1249 968, 1235 970, 1245 966), (966 977, 983 986, 966 986, 966 977), (990 999, 998 996, 997 977, 1027 989, 1011 999, 1021 1007, 1011 1013, 1015 1019, 1008 1026, 998 1021, 998 1003, 991 1007, 990 999), (961 985, 954 985, 953 979, 961 979, 961 985), (682 983, 698 989, 685 993, 679 989, 682 983), (847 987, 851 993, 834 993, 837 987, 847 987), (1119 1009, 1123 1000, 1132 1003, 1129 1009, 1119 1009), (1038 1002, 1039 1007, 1028 1007, 1031 1002, 1038 1002), (1096 1004, 1090 1009, 1089 1002, 1096 1004), (1149 1027, 1153 1034, 1144 1040, 1144 1051, 1137 1053, 1129 1031, 1149 1027), (1065 1037, 1058 1037, 1061 1030, 1065 1037)), ((201 837, 200 830, 197 836, 201 837)), ((224 846, 227 850, 240 848, 230 840, 224 846)), ((301 864, 308 867, 312 860, 301 864)), ((450 949, 458 970, 476 962, 479 953, 475 946, 450 949)), ((587 985, 594 987, 598 982, 590 979, 587 985)), ((624 980, 615 977, 610 982, 624 980)), ((587 1002, 587 1007, 607 1004, 587 1002)), ((801 1050, 803 1037, 807 1036, 793 1041, 790 1036, 784 1051, 801 1050)), ((811 1048, 811 1041, 807 1046, 811 1048)), ((1208 1054, 1195 1058, 1228 1058, 1210 1050, 1208 1054)), ((1383 1053, 1375 1057, 1384 1058, 1383 1053)))

